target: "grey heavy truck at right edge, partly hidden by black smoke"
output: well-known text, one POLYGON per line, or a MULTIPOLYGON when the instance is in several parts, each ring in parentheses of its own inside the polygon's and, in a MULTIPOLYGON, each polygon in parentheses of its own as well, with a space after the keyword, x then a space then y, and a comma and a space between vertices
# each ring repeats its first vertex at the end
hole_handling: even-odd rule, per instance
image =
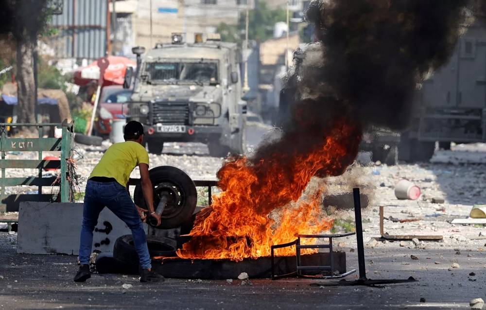
POLYGON ((402 132, 399 159, 428 161, 435 142, 486 142, 486 25, 471 24, 449 63, 432 73, 417 92, 414 118, 402 132))

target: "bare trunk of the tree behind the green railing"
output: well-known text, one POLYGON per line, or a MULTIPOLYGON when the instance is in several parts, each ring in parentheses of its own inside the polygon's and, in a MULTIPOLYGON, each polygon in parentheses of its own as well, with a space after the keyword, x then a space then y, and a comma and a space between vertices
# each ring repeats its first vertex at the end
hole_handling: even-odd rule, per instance
POLYGON ((17 122, 35 123, 34 51, 37 39, 22 36, 17 40, 17 122))

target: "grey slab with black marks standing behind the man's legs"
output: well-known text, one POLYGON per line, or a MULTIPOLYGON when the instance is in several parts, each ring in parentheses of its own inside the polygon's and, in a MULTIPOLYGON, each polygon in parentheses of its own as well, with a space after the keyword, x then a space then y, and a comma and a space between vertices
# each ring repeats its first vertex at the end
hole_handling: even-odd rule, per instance
MULTIPOLYGON (((83 203, 20 203, 17 253, 78 255, 82 220, 83 203)), ((112 253, 115 240, 128 234, 126 224, 104 208, 93 232, 92 250, 112 253)))

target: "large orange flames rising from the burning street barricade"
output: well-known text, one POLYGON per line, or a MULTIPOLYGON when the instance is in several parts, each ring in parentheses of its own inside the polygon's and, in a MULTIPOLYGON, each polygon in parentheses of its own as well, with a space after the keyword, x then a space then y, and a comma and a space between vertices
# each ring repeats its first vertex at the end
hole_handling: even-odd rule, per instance
MULTIPOLYGON (((342 174, 356 157, 360 139, 358 126, 339 120, 305 153, 275 152, 257 163, 246 157, 230 159, 218 171, 223 192, 198 215, 191 240, 177 255, 239 261, 269 256, 270 245, 293 241, 295 234, 329 230, 333 220, 322 217, 321 191, 282 207, 301 197, 312 176, 342 174)), ((279 249, 277 254, 295 255, 295 248, 279 249)))

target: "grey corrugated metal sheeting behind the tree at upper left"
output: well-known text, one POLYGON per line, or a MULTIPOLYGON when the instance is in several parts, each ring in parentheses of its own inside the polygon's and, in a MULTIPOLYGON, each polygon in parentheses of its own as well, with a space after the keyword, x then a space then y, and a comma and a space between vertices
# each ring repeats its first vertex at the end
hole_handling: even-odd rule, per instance
POLYGON ((108 0, 64 0, 62 14, 51 26, 57 34, 49 45, 58 58, 104 57, 107 47, 108 0))

